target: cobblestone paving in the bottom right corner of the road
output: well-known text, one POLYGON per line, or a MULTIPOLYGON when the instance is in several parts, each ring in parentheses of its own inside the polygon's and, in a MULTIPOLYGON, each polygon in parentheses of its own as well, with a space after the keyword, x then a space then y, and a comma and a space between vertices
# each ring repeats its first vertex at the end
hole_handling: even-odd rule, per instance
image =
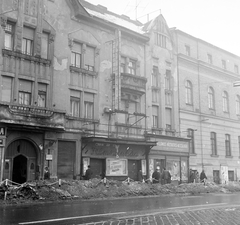
POLYGON ((240 225, 240 206, 175 211, 173 213, 149 214, 137 217, 121 218, 87 225, 240 225))

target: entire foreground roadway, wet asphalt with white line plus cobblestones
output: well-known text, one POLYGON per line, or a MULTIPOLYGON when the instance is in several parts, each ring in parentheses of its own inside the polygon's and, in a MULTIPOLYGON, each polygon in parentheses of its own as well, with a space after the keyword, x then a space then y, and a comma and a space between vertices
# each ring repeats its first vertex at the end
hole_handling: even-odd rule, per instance
POLYGON ((0 224, 240 224, 239 194, 151 196, 1 206, 0 224))

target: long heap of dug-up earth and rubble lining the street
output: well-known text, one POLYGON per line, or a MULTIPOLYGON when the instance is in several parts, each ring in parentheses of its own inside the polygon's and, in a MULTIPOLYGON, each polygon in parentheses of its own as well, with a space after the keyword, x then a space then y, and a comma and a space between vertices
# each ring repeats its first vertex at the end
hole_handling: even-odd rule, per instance
POLYGON ((131 196, 166 194, 240 192, 239 182, 216 185, 213 182, 174 184, 151 184, 141 182, 121 182, 100 179, 86 180, 40 180, 24 184, 14 184, 6 180, 0 183, 0 201, 5 203, 26 203, 36 201, 58 201, 66 199, 99 199, 131 196))

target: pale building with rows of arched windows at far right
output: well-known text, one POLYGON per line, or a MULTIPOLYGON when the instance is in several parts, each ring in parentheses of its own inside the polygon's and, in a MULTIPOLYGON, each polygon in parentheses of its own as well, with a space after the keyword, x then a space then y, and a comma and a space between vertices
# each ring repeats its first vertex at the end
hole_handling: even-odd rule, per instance
POLYGON ((180 130, 190 142, 190 168, 216 183, 236 181, 239 170, 240 57, 183 31, 175 36, 180 130))

